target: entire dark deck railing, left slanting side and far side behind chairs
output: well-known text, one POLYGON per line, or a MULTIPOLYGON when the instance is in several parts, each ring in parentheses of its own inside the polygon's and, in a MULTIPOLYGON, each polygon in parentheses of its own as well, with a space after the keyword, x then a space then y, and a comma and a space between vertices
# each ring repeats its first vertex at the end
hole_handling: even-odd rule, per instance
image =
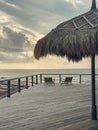
MULTIPOLYGON (((44 83, 44 77, 52 77, 56 83, 61 83, 62 78, 73 77, 73 83, 90 83, 91 74, 36 74, 12 79, 0 80, 0 98, 11 97, 15 92, 21 92, 22 89, 28 89, 30 86, 44 83)), ((98 74, 96 74, 98 79, 98 74)), ((97 81, 97 80, 96 80, 97 81)))

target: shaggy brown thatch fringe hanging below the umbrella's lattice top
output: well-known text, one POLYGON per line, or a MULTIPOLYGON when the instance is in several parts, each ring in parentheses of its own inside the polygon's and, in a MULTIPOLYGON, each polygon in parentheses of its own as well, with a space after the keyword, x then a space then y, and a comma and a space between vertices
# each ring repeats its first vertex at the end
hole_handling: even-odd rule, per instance
POLYGON ((98 54, 98 29, 52 30, 34 49, 36 59, 50 54, 76 62, 92 53, 98 54))

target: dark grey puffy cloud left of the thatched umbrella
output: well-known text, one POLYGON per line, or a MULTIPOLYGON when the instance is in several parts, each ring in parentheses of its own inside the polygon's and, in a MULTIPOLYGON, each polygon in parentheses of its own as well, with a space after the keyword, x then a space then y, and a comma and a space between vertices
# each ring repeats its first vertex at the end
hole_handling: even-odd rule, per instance
POLYGON ((5 51, 21 52, 24 51, 27 44, 31 47, 28 38, 21 32, 15 32, 8 27, 3 27, 3 35, 2 45, 4 45, 5 51))

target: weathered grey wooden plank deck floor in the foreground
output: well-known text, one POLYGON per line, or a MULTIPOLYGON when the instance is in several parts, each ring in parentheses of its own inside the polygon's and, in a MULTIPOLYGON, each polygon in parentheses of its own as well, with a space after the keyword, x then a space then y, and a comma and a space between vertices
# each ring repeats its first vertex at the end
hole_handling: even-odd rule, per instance
POLYGON ((90 85, 39 84, 0 100, 0 130, 98 130, 90 118, 90 85))

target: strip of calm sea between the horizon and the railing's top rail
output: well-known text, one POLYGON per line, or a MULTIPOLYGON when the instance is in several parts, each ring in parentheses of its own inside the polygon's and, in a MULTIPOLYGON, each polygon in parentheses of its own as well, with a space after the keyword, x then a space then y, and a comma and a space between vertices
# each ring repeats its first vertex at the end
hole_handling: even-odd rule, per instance
MULTIPOLYGON (((0 70, 0 78, 14 78, 21 76, 28 76, 40 73, 54 73, 54 74, 91 74, 90 69, 43 69, 43 70, 0 70)), ((96 74, 98 74, 98 69, 96 69, 96 74)))

